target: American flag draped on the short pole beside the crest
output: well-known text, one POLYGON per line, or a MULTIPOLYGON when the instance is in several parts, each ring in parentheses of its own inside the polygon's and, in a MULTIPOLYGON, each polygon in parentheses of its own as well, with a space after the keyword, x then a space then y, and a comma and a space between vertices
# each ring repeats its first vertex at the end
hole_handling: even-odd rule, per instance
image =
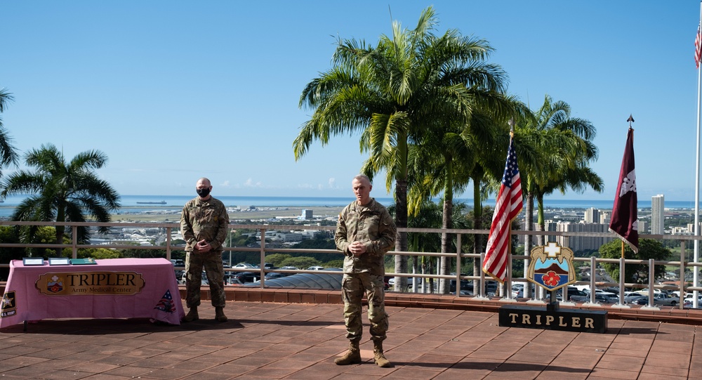
POLYGON ((514 139, 510 138, 510 150, 507 153, 505 173, 497 195, 495 212, 492 215, 490 236, 485 249, 483 272, 499 282, 507 277, 507 263, 510 259, 510 226, 522 211, 522 180, 519 179, 517 154, 514 139))

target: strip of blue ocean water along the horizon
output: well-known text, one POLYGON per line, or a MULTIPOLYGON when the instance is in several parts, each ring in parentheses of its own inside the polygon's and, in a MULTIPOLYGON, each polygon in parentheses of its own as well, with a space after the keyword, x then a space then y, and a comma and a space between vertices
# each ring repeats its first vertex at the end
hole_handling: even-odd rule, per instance
MULTIPOLYGON (((130 213, 138 213, 140 211, 150 210, 168 210, 179 211, 183 209, 183 205, 195 195, 121 195, 120 204, 122 209, 117 211, 128 211, 130 213), (165 202, 165 203, 164 203, 165 202)), ((0 203, 0 217, 10 216, 15 207, 26 198, 25 195, 15 195, 8 197, 3 203, 0 203)), ((353 197, 216 197, 224 202, 227 207, 340 207, 353 202, 353 197)), ((390 197, 376 197, 376 200, 385 206, 395 203, 390 197)), ((438 201, 438 199, 435 199, 438 201)), ((472 206, 473 201, 470 198, 458 198, 458 202, 465 202, 468 206, 472 206)), ((484 204, 494 206, 495 199, 488 199, 484 204)), ((545 199, 544 205, 547 209, 588 209, 595 207, 596 209, 611 209, 614 204, 613 200, 607 199, 545 199)), ((638 204, 640 209, 650 209, 651 200, 640 200, 638 204)), ((693 209, 694 202, 692 201, 669 201, 665 200, 665 208, 670 209, 693 209)))

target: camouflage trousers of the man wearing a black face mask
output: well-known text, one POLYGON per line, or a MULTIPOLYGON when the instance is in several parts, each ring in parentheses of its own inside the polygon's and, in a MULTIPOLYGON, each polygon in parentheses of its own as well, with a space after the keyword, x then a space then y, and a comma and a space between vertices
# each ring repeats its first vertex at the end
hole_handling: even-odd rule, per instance
POLYGON ((207 275, 210 284, 212 306, 224 307, 226 303, 224 294, 224 268, 222 266, 222 252, 207 252, 199 254, 197 251, 187 252, 185 255, 185 304, 188 308, 200 305, 200 284, 202 271, 207 275))

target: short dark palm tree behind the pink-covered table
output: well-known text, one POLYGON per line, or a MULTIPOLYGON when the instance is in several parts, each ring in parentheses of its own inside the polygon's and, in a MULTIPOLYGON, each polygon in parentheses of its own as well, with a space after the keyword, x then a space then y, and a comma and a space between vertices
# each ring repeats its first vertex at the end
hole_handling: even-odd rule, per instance
MULTIPOLYGON (((18 171, 6 178, 0 186, 0 198, 29 194, 11 218, 13 221, 85 222, 86 214, 98 222, 109 222, 110 211, 119 208, 119 195, 110 184, 93 172, 107 163, 107 156, 97 150, 79 153, 66 162, 63 153, 54 145, 42 145, 27 153, 27 166, 37 169, 34 173, 18 171)), ((98 232, 109 232, 99 227, 98 232)), ((32 241, 36 228, 22 234, 23 240, 32 241)), ((65 226, 56 226, 56 244, 63 243, 65 226)), ((68 232, 70 233, 70 232, 68 232)), ((87 227, 77 228, 79 243, 90 239, 87 227)), ((61 256, 62 249, 56 254, 61 256)))

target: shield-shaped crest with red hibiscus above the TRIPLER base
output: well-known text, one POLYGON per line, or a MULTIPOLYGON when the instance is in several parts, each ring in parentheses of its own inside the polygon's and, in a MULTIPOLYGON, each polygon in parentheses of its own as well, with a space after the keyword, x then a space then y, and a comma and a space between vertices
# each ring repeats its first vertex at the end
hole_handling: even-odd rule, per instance
POLYGON ((554 291, 576 282, 573 267, 573 251, 550 242, 531 249, 531 262, 527 270, 527 280, 554 291))

